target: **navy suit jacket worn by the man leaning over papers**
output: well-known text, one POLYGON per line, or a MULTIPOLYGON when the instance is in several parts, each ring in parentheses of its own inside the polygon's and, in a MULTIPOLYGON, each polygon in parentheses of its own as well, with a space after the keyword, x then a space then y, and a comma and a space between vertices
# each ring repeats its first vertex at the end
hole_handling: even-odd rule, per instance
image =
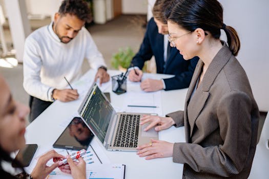
POLYGON ((163 35, 158 33, 158 27, 154 19, 151 18, 143 42, 138 53, 134 56, 132 64, 142 69, 144 62, 150 60, 153 55, 156 60, 157 73, 175 75, 173 78, 164 79, 165 90, 189 87, 198 58, 184 60, 179 51, 172 48, 163 69, 163 35))

